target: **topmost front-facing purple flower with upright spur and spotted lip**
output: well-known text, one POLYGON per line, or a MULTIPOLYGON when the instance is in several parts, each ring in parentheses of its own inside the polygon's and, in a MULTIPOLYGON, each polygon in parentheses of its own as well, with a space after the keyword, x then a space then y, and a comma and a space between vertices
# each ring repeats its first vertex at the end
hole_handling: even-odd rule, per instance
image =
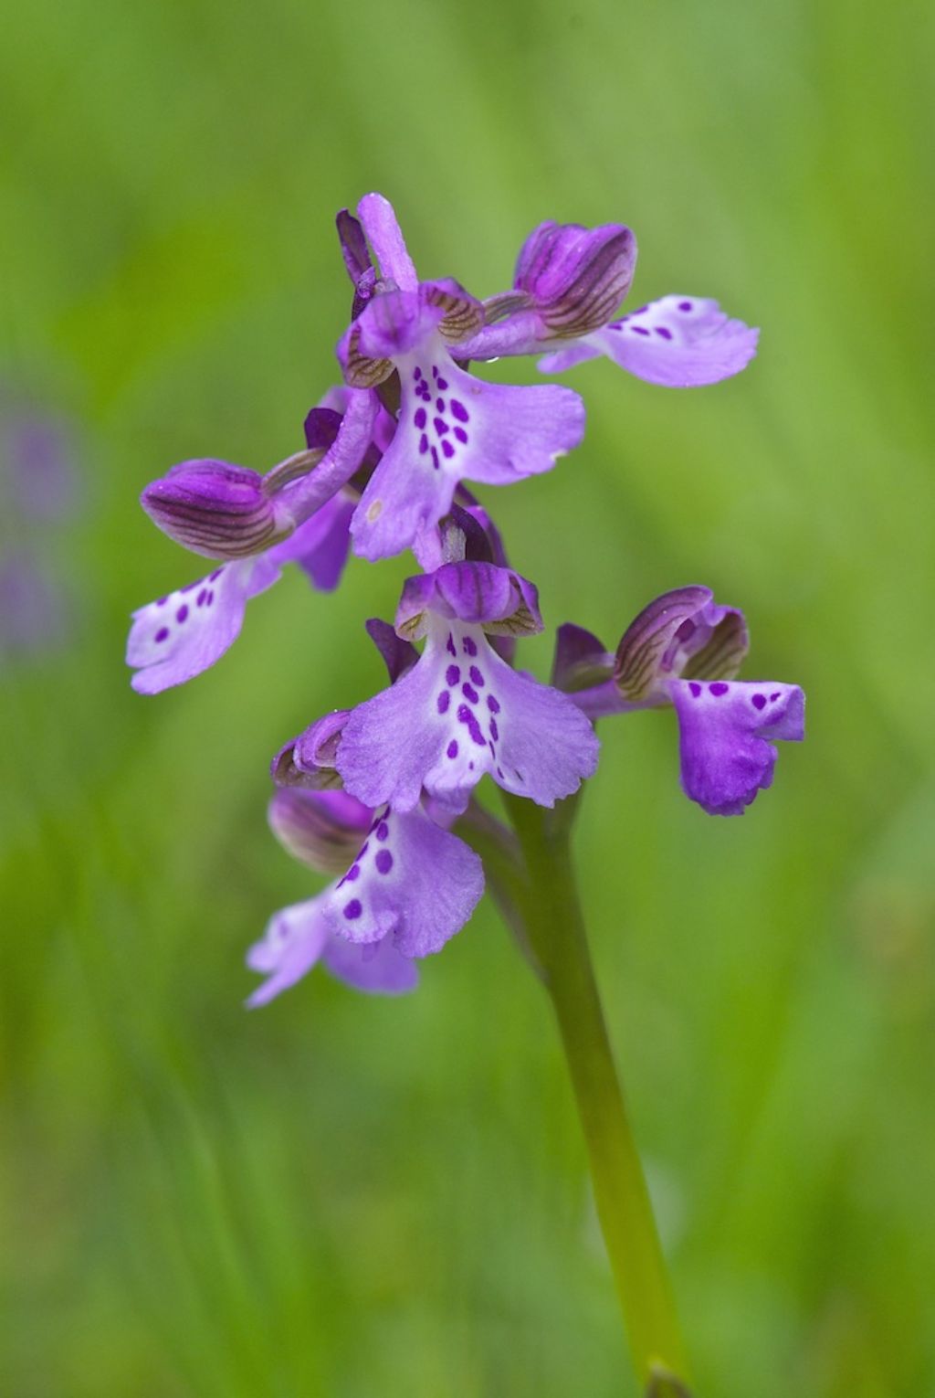
POLYGON ((398 373, 398 425, 351 521, 354 549, 379 559, 409 548, 447 513, 460 481, 509 485, 548 471, 584 433, 576 393, 552 386, 505 387, 460 368, 460 343, 484 309, 456 281, 419 282, 390 203, 368 194, 340 221, 355 280, 355 320, 338 344, 345 379, 358 389, 398 373), (380 261, 377 278, 363 231, 380 261))

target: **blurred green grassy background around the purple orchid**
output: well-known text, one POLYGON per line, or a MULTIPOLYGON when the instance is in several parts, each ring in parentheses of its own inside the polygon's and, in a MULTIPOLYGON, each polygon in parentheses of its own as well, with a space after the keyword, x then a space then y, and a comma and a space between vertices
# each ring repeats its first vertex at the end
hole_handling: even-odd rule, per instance
MULTIPOLYGON (((625 219, 639 301, 763 326, 730 383, 570 376, 584 446, 486 492, 546 618, 742 604, 809 738, 742 821, 671 716, 607 726, 584 898, 702 1398, 935 1392, 929 6, 35 0, 0 50, 10 401, 70 424, 56 647, 3 660, 0 1391, 633 1395, 548 1004, 484 906, 418 995, 243 952, 317 886, 267 761, 379 684, 405 562, 295 576, 191 685, 129 611, 198 576, 137 506, 266 468, 334 379, 333 215, 509 281, 542 218, 625 219)), ((534 377, 521 363, 492 370, 534 377)), ((4 520, 6 547, 17 534, 4 520)), ((544 674, 549 642, 526 647, 544 674)))

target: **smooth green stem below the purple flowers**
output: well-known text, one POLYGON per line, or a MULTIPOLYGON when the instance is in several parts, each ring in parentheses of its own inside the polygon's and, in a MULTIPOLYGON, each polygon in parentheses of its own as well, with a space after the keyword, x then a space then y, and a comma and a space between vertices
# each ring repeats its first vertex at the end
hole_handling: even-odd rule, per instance
POLYGON ((555 811, 506 795, 526 878, 513 895, 559 1022, 633 1362, 651 1398, 688 1388, 672 1293, 643 1167, 614 1067, 581 917, 570 830, 574 800, 555 811))

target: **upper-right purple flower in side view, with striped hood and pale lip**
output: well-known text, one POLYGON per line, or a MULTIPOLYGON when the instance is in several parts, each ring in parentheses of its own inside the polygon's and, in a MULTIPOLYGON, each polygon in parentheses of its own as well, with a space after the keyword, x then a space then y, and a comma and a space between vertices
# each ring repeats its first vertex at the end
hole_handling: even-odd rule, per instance
POLYGON ((513 291, 484 303, 488 323, 460 350, 472 359, 552 350, 539 359, 544 373, 607 355, 669 389, 717 383, 749 363, 759 330, 703 296, 661 296, 612 320, 635 266, 636 239, 623 224, 539 224, 520 250, 513 291))

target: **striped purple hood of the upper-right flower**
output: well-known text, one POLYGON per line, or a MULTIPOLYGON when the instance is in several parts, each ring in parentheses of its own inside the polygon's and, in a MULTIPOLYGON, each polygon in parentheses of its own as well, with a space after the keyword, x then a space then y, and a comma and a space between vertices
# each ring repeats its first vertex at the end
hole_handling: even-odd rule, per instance
POLYGON ((523 243, 513 285, 527 294, 552 336, 572 338, 608 324, 630 289, 635 266, 636 238, 623 224, 548 222, 523 243))

